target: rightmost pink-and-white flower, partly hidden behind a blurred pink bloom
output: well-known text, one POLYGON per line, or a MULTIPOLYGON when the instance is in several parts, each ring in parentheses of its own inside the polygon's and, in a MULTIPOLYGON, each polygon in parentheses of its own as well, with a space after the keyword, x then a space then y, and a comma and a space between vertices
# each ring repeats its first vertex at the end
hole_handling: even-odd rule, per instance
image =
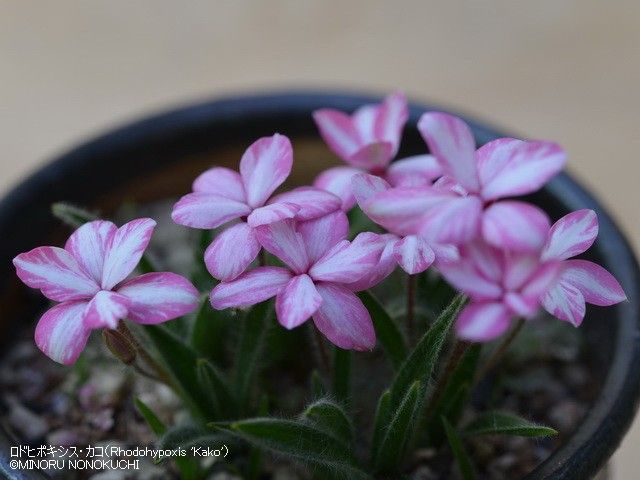
POLYGON ((585 302, 599 306, 626 300, 618 281, 608 271, 587 260, 570 258, 585 252, 598 235, 593 210, 578 210, 558 220, 542 251, 543 260, 561 262, 558 282, 545 294, 542 305, 551 315, 574 326, 582 323, 585 302))

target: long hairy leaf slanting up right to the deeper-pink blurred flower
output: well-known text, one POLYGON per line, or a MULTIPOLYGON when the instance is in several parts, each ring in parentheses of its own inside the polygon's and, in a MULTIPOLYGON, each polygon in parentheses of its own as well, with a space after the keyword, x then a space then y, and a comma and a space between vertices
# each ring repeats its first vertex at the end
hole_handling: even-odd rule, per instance
POLYGON ((420 381, 423 388, 426 388, 451 326, 465 302, 464 295, 456 296, 404 361, 391 386, 392 410, 399 406, 414 382, 420 381))

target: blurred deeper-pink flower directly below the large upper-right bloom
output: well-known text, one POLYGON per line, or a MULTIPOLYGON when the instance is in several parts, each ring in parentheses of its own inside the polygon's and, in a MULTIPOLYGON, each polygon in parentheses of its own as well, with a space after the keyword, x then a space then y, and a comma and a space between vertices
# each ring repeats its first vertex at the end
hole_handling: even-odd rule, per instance
POLYGON ((560 262, 538 253, 498 250, 480 241, 460 247, 460 260, 439 270, 471 301, 456 322, 460 338, 485 342, 504 333, 515 316, 531 318, 557 281, 560 262))

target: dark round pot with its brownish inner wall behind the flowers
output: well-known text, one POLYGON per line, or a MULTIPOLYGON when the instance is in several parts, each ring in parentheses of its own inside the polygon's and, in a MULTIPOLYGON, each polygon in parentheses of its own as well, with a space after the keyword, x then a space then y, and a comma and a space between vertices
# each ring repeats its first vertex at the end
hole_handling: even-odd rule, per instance
MULTIPOLYGON (((16 279, 11 259, 38 245, 60 243, 63 231, 50 205, 70 201, 109 213, 123 200, 144 202, 179 195, 195 175, 213 163, 235 166, 255 138, 280 132, 294 144, 297 160, 291 183, 308 182, 332 160, 318 137, 311 112, 321 107, 353 110, 371 97, 334 93, 281 93, 205 102, 127 125, 66 153, 16 187, 0 203, 0 341, 11 343, 19 329, 33 328, 44 303, 16 279), (304 159, 304 160, 302 160, 304 159)), ((422 153, 412 105, 400 155, 422 153)), ((479 144, 506 136, 469 122, 479 144)), ((611 271, 628 302, 590 309, 583 326, 592 370, 601 389, 580 427, 527 479, 584 480, 595 475, 618 446, 634 416, 640 387, 640 271, 631 248, 598 202, 568 175, 555 178, 531 199, 552 218, 579 208, 600 217, 600 237, 590 258, 611 271)), ((1 361, 1 360, 0 360, 1 361)), ((0 473, 8 468, 12 442, 0 431, 0 473)))

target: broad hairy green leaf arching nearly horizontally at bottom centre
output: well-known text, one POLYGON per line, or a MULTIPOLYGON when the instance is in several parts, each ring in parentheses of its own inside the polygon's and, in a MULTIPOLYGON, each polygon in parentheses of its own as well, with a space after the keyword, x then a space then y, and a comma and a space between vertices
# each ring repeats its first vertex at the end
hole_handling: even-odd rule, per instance
POLYGON ((369 479, 353 453, 319 428, 296 420, 252 418, 218 428, 252 445, 302 462, 334 478, 369 479))

